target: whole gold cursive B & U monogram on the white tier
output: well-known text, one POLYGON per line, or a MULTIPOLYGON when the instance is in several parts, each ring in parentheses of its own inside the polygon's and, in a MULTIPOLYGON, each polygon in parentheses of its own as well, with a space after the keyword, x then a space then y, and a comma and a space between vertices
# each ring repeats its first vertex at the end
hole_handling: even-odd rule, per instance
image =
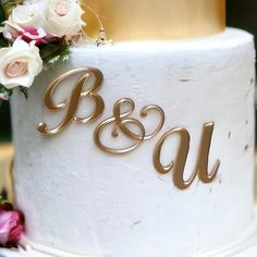
MULTIPOLYGON (((105 102, 102 98, 96 93, 101 87, 103 75, 101 71, 95 68, 75 69, 56 78, 47 87, 44 101, 45 106, 50 111, 54 112, 65 109, 66 111, 64 118, 59 123, 59 125, 53 128, 49 128, 46 123, 40 123, 37 130, 44 135, 54 135, 63 131, 73 120, 78 123, 88 123, 96 121, 98 118, 100 118, 105 109, 105 102), (60 87, 63 82, 75 75, 78 78, 75 82, 74 87, 72 88, 70 98, 65 98, 60 103, 54 103, 52 98, 56 94, 57 88, 60 87), (94 82, 94 85, 89 89, 85 89, 86 86, 88 88, 91 85, 91 82, 94 82), (77 109, 81 105, 81 100, 88 97, 94 101, 95 109, 88 117, 78 117, 77 109)), ((140 110, 140 118, 147 118, 150 112, 157 113, 159 118, 157 126, 154 127, 154 130, 150 132, 146 130, 144 123, 131 117, 134 110, 134 101, 128 98, 122 98, 115 102, 113 107, 113 115, 102 121, 96 127, 94 133, 95 144, 102 151, 110 155, 124 155, 131 152, 138 148, 143 144, 143 142, 149 140, 157 136, 157 134, 161 131, 166 121, 166 113, 159 106, 150 105, 140 110), (110 133, 112 138, 118 138, 120 134, 122 134, 125 139, 128 139, 128 146, 107 146, 108 144, 102 140, 102 138, 105 138, 102 134, 108 132, 108 127, 112 128, 110 133)), ((170 130, 159 139, 152 157, 156 170, 160 174, 168 174, 169 172, 172 172, 174 185, 180 189, 188 188, 195 181, 197 175, 203 183, 211 183, 216 179, 220 168, 220 160, 217 160, 213 168, 208 171, 209 152, 213 128, 213 122, 206 123, 203 126, 196 167, 191 174, 191 178, 185 179, 185 166, 189 152, 191 135, 184 127, 175 127, 173 130, 170 130), (168 138, 174 135, 178 135, 180 139, 174 161, 170 161, 168 166, 163 166, 163 163, 161 163, 161 152, 163 149, 163 145, 168 140, 168 138)))

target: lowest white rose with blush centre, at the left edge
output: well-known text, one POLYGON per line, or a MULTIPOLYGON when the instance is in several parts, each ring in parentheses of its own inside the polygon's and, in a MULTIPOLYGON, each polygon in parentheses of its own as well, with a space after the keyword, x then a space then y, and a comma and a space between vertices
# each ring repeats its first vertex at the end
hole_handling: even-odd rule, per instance
POLYGON ((11 48, 0 49, 0 83, 8 89, 30 87, 42 70, 42 60, 35 42, 16 39, 11 48))

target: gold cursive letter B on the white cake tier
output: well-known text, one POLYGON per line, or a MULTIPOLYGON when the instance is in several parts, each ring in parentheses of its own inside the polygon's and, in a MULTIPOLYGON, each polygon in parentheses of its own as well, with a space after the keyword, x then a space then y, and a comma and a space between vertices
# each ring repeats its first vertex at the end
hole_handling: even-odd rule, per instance
POLYGON ((46 123, 40 123, 37 127, 37 130, 44 134, 44 135, 54 135, 63 131, 73 120, 79 122, 79 123, 87 123, 93 122, 97 120, 103 112, 105 109, 105 102, 102 98, 96 94, 96 91, 100 88, 101 83, 103 81, 102 73, 94 68, 79 68, 72 71, 69 71, 61 76, 59 76, 56 81, 53 81, 47 88, 45 94, 45 106, 50 111, 59 111, 64 108, 66 108, 66 113, 64 119, 61 121, 61 123, 54 127, 54 128, 48 128, 46 123), (77 79, 70 99, 64 99, 59 105, 53 103, 52 101, 52 95, 54 94, 56 89, 60 84, 65 81, 66 78, 82 73, 83 75, 77 79), (91 88, 88 90, 83 91, 86 83, 88 82, 88 78, 94 75, 95 83, 91 88), (95 110, 91 115, 86 118, 78 118, 76 115, 77 108, 79 106, 81 99, 85 97, 90 97, 95 102, 95 110))

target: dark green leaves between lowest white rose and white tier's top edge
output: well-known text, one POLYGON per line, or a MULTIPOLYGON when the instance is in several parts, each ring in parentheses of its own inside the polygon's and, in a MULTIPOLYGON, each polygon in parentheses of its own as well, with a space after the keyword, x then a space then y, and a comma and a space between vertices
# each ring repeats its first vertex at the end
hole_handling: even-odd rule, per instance
POLYGON ((66 61, 70 57, 70 47, 64 44, 41 45, 40 56, 46 65, 50 65, 59 60, 66 61))

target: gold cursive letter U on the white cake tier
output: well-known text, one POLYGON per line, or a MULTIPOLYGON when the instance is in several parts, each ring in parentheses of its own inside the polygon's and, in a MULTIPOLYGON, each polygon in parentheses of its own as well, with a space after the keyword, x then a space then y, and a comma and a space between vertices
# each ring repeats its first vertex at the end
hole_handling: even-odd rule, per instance
POLYGON ((157 147, 155 149, 155 154, 154 154, 154 166, 156 170, 161 174, 167 174, 173 170, 173 182, 174 182, 174 185, 179 187, 180 189, 188 188, 194 182, 197 174, 201 182, 204 183, 212 182, 220 167, 220 161, 218 160, 211 173, 208 174, 208 158, 209 158, 209 150, 210 150, 210 143, 211 143, 211 136, 213 132, 213 126, 215 126, 213 123, 207 123, 204 125, 196 169, 187 181, 184 180, 184 170, 185 170, 185 163, 186 163, 186 159, 187 159, 188 150, 189 150, 191 136, 188 132, 183 127, 176 127, 167 132, 158 142, 157 147), (169 166, 164 167, 162 166, 160 161, 161 149, 167 138, 174 134, 178 134, 180 136, 179 150, 178 150, 175 160, 172 161, 169 166))

